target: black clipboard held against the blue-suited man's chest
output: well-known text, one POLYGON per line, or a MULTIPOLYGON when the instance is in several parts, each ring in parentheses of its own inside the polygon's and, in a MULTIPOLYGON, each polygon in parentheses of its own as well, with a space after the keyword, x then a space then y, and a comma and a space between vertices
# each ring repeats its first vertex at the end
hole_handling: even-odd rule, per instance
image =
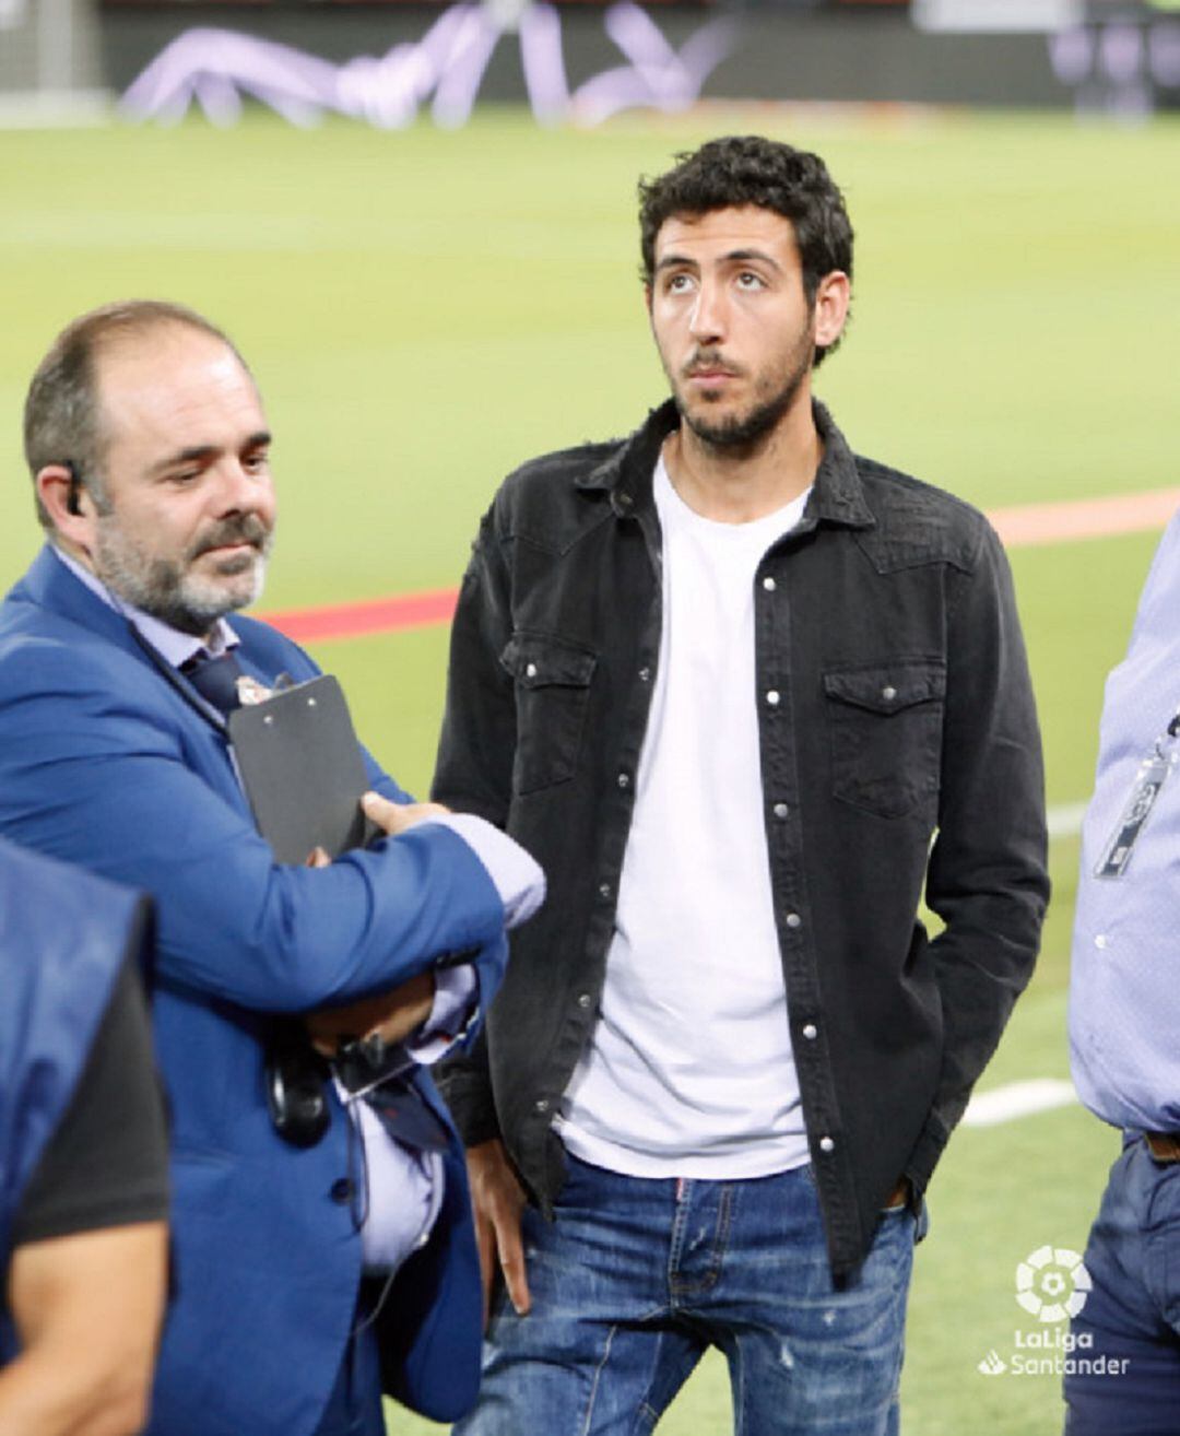
POLYGON ((369 788, 340 684, 329 673, 230 714, 245 796, 278 863, 306 863, 316 847, 339 857, 378 829, 360 808, 369 788))

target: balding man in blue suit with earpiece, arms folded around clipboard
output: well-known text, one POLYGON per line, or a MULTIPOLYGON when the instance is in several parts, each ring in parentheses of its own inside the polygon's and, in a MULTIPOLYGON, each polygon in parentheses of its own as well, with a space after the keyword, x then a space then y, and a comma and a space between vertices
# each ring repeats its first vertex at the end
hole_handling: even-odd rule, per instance
POLYGON ((370 847, 283 866, 257 834, 225 711, 317 669, 225 619, 258 596, 276 508, 224 335, 171 304, 82 316, 33 378, 24 444, 49 543, 0 609, 0 830, 158 906, 175 1300, 148 1430, 378 1436, 382 1383, 454 1419, 478 1381, 478 1258, 421 1063, 471 1035, 540 870, 372 760, 370 847), (403 1045, 411 1139, 322 1078, 304 1028, 320 1051, 403 1045))

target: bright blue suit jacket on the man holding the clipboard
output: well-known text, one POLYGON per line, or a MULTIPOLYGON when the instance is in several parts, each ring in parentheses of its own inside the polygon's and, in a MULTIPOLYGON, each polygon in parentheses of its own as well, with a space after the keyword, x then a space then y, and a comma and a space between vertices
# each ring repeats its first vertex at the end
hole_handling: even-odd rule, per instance
MULTIPOLYGON (((238 658, 271 682, 314 663, 235 619, 238 658)), ((373 787, 402 796, 370 765, 373 787)), ((154 1436, 306 1436, 355 1318, 360 1239, 333 1199, 347 1123, 306 1150, 268 1120, 273 1014, 403 982, 478 949, 481 1007, 502 975, 502 906, 471 849, 411 830, 313 872, 274 863, 224 734, 174 691, 128 622, 43 550, 0 609, 0 831, 146 889, 158 906, 152 1011, 172 1116, 177 1295, 154 1436)), ((444 1110, 434 1084, 418 1078, 444 1110)), ((449 1119, 448 1119, 449 1120, 449 1119)), ((478 1384, 481 1294, 462 1149, 442 1213, 386 1302, 386 1380, 438 1420, 478 1384)))

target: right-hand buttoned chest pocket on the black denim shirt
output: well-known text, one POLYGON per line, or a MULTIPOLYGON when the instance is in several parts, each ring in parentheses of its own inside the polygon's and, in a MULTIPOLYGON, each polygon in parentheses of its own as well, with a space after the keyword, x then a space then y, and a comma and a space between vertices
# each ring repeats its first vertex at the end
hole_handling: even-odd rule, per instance
POLYGON ((897 659, 824 673, 833 793, 844 803, 903 817, 939 791, 946 666, 897 659))

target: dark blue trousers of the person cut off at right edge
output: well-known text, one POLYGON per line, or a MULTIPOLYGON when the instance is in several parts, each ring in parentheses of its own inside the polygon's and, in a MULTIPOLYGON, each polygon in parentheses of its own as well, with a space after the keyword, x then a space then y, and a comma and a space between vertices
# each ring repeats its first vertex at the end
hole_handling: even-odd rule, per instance
POLYGON ((1094 1285, 1071 1325, 1067 1436, 1176 1436, 1180 1165, 1154 1162, 1141 1137, 1128 1143, 1082 1259, 1094 1285))

